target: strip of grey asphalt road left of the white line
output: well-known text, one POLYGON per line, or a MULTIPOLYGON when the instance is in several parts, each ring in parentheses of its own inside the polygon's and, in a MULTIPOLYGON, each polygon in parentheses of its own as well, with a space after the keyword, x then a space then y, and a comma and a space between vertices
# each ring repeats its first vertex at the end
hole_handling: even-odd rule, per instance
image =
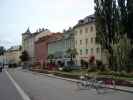
POLYGON ((23 100, 5 71, 0 72, 0 100, 23 100))

